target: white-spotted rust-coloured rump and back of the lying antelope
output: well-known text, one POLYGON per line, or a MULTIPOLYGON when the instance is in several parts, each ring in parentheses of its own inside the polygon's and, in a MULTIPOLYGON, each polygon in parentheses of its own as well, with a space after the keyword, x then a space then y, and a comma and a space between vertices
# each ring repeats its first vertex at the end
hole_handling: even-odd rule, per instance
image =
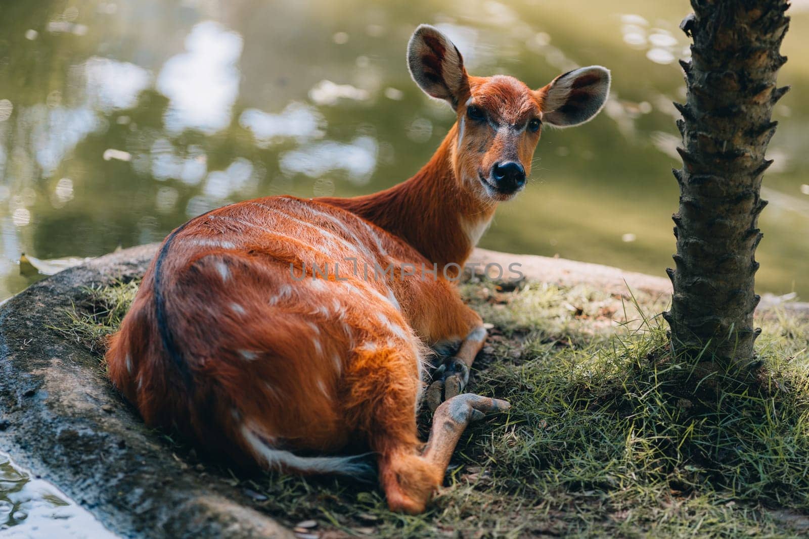
POLYGON ((111 339, 109 376, 147 424, 210 453, 350 468, 297 455, 362 445, 357 433, 374 427, 362 410, 375 398, 369 377, 416 398, 421 343, 397 300, 407 307, 408 284, 375 273, 401 260, 422 257, 326 204, 270 197, 219 208, 161 246, 111 339))

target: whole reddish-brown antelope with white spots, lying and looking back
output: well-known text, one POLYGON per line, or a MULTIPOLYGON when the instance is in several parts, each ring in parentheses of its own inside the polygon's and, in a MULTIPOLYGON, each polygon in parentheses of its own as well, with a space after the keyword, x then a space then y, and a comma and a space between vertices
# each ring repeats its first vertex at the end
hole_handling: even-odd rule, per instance
POLYGON ((542 127, 591 120, 610 74, 583 67, 538 90, 472 76, 429 25, 407 62, 457 116, 416 175, 353 198, 247 200, 180 225, 105 359, 150 427, 236 466, 292 474, 361 474, 370 453, 390 509, 417 514, 468 424, 510 408, 464 393, 487 331, 455 277, 498 204, 525 187, 542 127), (430 378, 440 347, 455 352, 430 378))

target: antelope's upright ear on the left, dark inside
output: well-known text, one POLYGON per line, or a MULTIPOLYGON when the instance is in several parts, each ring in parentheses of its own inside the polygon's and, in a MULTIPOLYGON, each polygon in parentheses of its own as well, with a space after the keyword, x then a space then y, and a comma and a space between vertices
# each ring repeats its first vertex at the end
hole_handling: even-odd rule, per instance
POLYGON ((410 75, 430 97, 446 99, 457 108, 469 93, 464 58, 447 36, 429 24, 413 32, 407 46, 410 75))

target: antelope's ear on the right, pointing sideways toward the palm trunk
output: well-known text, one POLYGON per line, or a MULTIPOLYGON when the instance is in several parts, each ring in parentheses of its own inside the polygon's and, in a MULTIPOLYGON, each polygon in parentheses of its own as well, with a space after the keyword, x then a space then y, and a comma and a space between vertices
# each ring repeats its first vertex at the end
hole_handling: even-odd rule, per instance
POLYGON ((607 102, 609 69, 591 65, 568 71, 536 91, 542 100, 542 121, 571 127, 592 120, 607 102))

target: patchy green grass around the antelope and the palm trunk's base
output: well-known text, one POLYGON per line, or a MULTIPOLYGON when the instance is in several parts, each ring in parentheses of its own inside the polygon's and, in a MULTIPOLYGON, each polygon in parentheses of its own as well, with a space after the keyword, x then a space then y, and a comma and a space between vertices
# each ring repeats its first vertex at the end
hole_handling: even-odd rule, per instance
MULTIPOLYGON (((88 289, 61 331, 100 352, 134 286, 88 289)), ((328 537, 809 532, 809 321, 761 319, 764 367, 743 386, 671 357, 659 299, 548 284, 461 290, 494 326, 469 390, 512 408, 468 429, 426 514, 388 512, 375 484, 239 476, 178 454, 286 524, 317 520, 328 537)))

